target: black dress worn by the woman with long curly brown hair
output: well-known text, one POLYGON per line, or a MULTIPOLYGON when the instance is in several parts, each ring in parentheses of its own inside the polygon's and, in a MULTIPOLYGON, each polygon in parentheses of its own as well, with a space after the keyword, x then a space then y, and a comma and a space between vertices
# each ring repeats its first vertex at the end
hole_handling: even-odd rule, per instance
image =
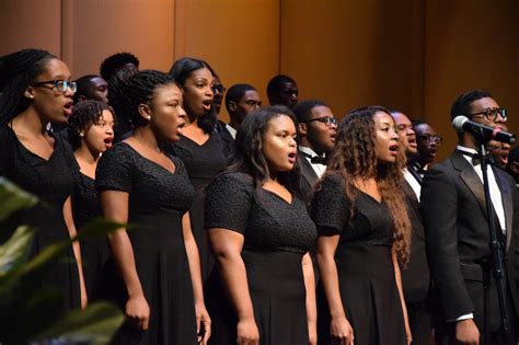
MULTIPOLYGON (((335 252, 338 285, 356 344, 407 344, 404 317, 391 260, 393 219, 388 206, 357 191, 351 202, 339 175, 326 176, 315 192, 311 215, 319 235, 339 234, 335 252)), ((331 344, 330 312, 318 286, 319 344, 331 344)))

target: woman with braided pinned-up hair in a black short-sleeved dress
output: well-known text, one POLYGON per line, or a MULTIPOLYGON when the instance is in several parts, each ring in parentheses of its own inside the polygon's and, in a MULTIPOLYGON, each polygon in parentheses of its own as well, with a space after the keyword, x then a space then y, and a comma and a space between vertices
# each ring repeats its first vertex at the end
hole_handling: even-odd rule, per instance
POLYGON ((182 161, 162 150, 184 127, 182 92, 170 76, 140 71, 124 94, 134 134, 101 157, 95 174, 104 215, 130 225, 109 237, 123 280, 112 299, 128 317, 114 343, 206 344, 210 319, 187 212, 194 191, 182 161))

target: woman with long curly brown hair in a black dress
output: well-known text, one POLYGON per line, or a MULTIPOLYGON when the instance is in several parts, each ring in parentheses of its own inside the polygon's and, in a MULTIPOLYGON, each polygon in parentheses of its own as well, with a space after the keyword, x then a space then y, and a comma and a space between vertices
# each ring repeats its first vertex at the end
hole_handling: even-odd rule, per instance
POLYGON ((394 120, 383 107, 358 108, 335 140, 311 205, 319 344, 408 344, 397 261, 408 261, 411 226, 394 120))

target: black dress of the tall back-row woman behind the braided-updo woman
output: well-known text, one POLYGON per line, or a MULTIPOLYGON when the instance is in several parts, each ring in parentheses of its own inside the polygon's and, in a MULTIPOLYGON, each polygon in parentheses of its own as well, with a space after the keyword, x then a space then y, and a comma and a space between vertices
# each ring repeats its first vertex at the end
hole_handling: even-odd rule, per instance
POLYGON ((173 154, 184 162, 189 181, 195 187, 195 199, 189 209, 191 227, 200 254, 201 279, 206 281, 215 265, 215 260, 209 253, 207 235, 204 231, 204 199, 205 188, 212 177, 226 166, 227 158, 220 137, 216 133, 209 139, 198 145, 187 137, 171 146, 173 154))

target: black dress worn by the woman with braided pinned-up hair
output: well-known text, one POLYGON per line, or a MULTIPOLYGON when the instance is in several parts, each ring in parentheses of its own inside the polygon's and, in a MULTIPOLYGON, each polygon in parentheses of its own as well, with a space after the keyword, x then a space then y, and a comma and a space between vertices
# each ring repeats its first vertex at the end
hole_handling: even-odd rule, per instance
MULTIPOLYGON (((123 327, 116 344, 196 344, 196 319, 182 216, 193 202, 193 186, 184 164, 171 157, 174 173, 140 156, 126 142, 116 143, 100 159, 99 192, 129 193, 128 237, 137 274, 151 310, 149 330, 123 327)), ((112 300, 123 310, 127 295, 122 280, 111 284, 112 300)))

